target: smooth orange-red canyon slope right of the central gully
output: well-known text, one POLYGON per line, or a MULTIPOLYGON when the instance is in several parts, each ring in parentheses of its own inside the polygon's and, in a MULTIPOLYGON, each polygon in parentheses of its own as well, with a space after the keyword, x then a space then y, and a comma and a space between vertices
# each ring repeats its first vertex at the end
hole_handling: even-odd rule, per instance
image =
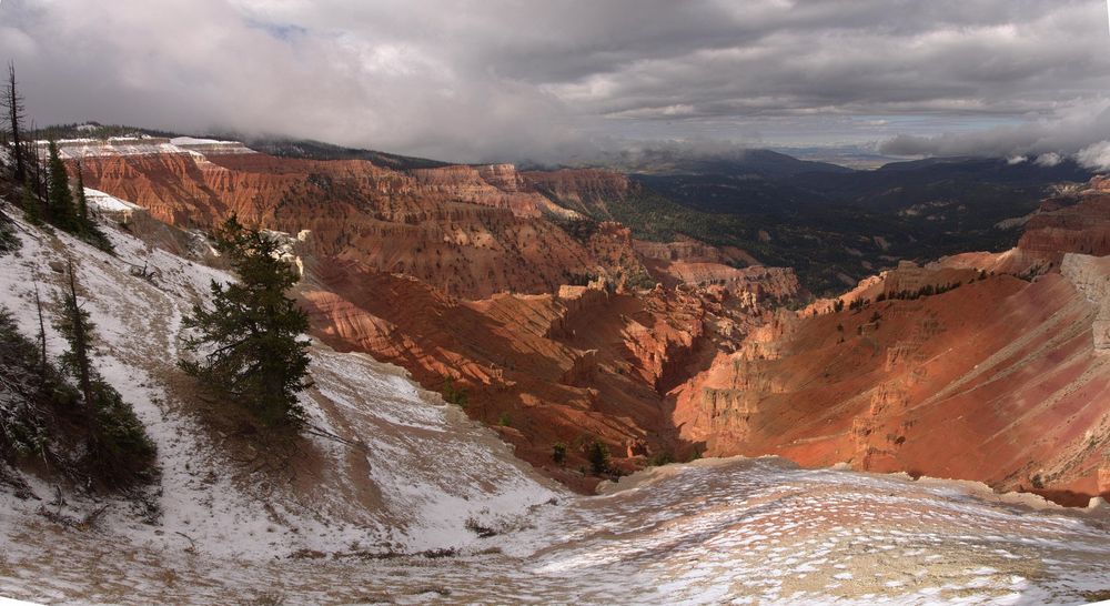
POLYGON ((818 302, 750 331, 673 392, 680 435, 709 454, 847 461, 1086 505, 1107 492, 1110 448, 1110 257, 1072 252, 1101 252, 1110 214, 1090 191, 1030 222, 1013 251, 906 264, 841 297, 868 300, 861 310, 818 302))

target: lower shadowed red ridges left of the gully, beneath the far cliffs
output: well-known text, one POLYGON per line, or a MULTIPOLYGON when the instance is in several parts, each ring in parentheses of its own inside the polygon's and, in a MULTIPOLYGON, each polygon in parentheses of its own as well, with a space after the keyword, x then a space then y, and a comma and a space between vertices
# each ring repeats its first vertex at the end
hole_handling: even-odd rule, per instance
MULTIPOLYGON (((553 475, 565 473, 551 461, 556 442, 601 438, 615 454, 627 443, 653 453, 678 447, 664 393, 689 376, 686 363, 706 346, 698 296, 595 284, 458 301, 350 262, 309 269, 315 285, 303 299, 315 334, 401 364, 432 390, 455 377, 468 392, 467 412, 491 424, 507 415, 515 431, 503 437, 553 475)), ((572 465, 583 456, 572 448, 572 465)))

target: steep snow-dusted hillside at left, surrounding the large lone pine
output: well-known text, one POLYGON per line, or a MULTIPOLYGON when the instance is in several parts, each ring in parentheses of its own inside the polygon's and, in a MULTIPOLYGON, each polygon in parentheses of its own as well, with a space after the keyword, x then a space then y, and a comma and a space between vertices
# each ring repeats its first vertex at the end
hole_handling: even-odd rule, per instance
MULTIPOLYGON (((311 352, 316 385, 303 396, 313 428, 297 445, 297 461, 290 469, 255 469, 242 461, 249 451, 221 447, 224 436, 205 430, 186 392, 168 388, 188 390, 174 366, 182 315, 206 296, 210 280, 229 276, 114 230, 108 231, 117 256, 63 233, 20 228, 22 249, 0 257, 0 304, 34 334, 34 284, 49 300, 62 280, 51 265, 72 259, 102 340, 95 364, 158 443, 161 516, 137 522, 128 503, 115 503, 105 517, 113 531, 143 544, 256 558, 355 544, 383 553, 460 548, 476 541, 468 519, 495 524, 559 492, 404 371, 320 345, 311 352), (144 265, 149 279, 135 275, 144 265)), ((52 331, 49 344, 61 353, 52 331)), ((51 495, 39 486, 39 497, 51 495)), ((41 505, 4 498, 6 524, 41 505)), ((74 518, 100 507, 80 495, 67 501, 61 513, 74 518)))

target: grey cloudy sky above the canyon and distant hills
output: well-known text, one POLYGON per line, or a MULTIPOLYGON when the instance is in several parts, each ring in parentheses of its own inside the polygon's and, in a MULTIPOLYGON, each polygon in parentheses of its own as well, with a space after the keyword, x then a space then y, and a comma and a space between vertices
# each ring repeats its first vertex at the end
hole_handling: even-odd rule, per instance
POLYGON ((657 143, 1110 170, 1104 0, 2 0, 39 124, 460 162, 657 143))

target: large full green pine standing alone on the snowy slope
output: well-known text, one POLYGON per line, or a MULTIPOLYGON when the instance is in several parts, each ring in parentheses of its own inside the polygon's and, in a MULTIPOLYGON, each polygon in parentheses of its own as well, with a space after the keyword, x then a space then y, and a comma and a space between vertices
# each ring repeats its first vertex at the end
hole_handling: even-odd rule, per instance
POLYGON ((198 334, 185 347, 201 362, 181 367, 205 385, 245 407, 265 425, 297 426, 303 411, 296 394, 307 381, 309 319, 285 292, 296 284, 296 270, 279 257, 279 243, 232 216, 215 233, 239 282, 213 281, 212 310, 193 307, 184 325, 198 334))

